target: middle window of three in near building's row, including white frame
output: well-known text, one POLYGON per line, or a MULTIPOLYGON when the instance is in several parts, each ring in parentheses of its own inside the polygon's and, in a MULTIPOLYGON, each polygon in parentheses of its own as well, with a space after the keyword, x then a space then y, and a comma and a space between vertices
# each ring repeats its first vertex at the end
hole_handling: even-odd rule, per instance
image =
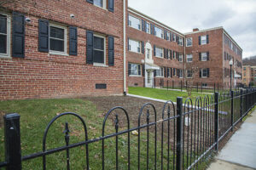
POLYGON ((53 53, 67 54, 67 28, 49 25, 49 50, 53 53))

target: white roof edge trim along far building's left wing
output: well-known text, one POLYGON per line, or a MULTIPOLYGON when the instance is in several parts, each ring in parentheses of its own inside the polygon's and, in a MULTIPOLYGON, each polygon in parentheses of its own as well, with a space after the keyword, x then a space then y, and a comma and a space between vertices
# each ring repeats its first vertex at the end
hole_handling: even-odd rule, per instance
POLYGON ((155 20, 154 18, 148 16, 147 14, 143 14, 143 13, 137 11, 135 8, 128 7, 128 11, 131 12, 131 13, 137 14, 137 15, 139 15, 139 16, 145 18, 145 19, 148 19, 148 20, 150 20, 151 22, 154 22, 155 24, 158 24, 159 26, 162 26, 162 27, 164 27, 164 28, 166 28, 166 29, 168 29, 168 30, 171 30, 171 31, 173 31, 174 33, 178 34, 179 36, 185 37, 185 35, 184 35, 183 33, 174 30, 174 29, 173 29, 172 27, 170 27, 170 26, 166 26, 165 24, 161 23, 160 21, 155 20))

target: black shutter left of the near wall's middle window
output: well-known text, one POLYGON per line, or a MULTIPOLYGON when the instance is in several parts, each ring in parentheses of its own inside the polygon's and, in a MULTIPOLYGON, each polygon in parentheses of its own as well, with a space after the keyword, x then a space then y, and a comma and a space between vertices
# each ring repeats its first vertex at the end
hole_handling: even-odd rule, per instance
POLYGON ((38 20, 38 51, 49 52, 49 21, 38 20))

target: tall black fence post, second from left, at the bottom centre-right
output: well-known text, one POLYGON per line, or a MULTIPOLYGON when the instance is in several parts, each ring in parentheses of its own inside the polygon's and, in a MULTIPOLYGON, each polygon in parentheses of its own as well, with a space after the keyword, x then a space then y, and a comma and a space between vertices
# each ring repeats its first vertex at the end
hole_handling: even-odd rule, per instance
POLYGON ((183 98, 177 98, 177 159, 176 170, 183 168, 183 98))

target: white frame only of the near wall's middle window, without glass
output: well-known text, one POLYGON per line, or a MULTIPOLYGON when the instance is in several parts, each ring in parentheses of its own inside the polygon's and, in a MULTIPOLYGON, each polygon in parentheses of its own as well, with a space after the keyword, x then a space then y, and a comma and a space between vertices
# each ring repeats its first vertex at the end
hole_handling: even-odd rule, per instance
POLYGON ((66 26, 60 26, 60 25, 55 25, 55 24, 49 23, 49 54, 67 55, 67 27, 66 26), (50 26, 56 27, 56 28, 61 28, 64 30, 64 52, 50 50, 50 38, 51 38, 50 37, 50 26))

